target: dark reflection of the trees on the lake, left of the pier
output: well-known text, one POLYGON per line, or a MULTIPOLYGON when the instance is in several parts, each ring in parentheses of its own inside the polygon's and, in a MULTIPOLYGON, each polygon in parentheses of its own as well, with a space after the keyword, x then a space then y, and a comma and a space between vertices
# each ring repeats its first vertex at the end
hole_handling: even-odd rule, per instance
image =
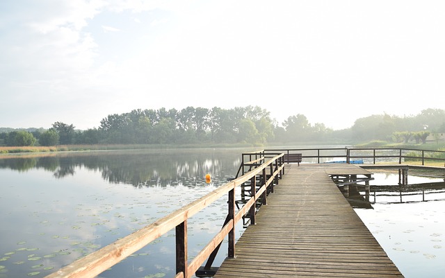
MULTIPOLYGON (((238 150, 236 150, 238 151, 238 150)), ((63 178, 75 175, 76 168, 99 171, 108 182, 133 186, 166 186, 179 184, 191 177, 233 175, 227 170, 241 163, 240 152, 227 155, 225 150, 207 152, 175 150, 132 150, 76 153, 47 157, 10 157, 0 159, 0 168, 24 172, 33 168, 63 178), (226 153, 226 154, 225 154, 226 153)), ((230 152, 229 152, 230 153, 230 152)))

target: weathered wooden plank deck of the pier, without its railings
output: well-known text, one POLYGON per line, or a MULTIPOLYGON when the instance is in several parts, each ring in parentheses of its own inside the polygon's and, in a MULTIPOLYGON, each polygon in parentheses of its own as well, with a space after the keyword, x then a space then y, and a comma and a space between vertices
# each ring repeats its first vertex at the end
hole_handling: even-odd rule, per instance
POLYGON ((403 277, 329 175, 355 165, 290 164, 215 278, 403 277), (346 168, 345 168, 346 167, 346 168))

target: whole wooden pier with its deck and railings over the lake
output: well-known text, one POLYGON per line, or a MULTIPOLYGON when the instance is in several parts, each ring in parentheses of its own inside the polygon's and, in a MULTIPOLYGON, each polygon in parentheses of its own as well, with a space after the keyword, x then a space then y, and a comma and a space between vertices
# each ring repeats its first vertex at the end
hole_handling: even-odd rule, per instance
MULTIPOLYGON (((372 159, 375 164, 376 159, 395 157, 398 164, 403 159, 414 158, 422 159, 423 165, 429 162, 426 153, 430 151, 421 150, 420 157, 407 155, 402 149, 398 149, 398 155, 394 155, 393 150, 381 154, 376 149, 371 149, 371 155, 351 155, 356 150, 365 149, 243 153, 241 166, 233 180, 154 223, 60 268, 47 278, 97 277, 172 229, 176 238, 175 278, 193 275, 216 278, 403 277, 348 202, 357 196, 357 192, 360 193, 357 188, 364 186, 364 202, 369 203, 366 193, 369 198, 372 173, 355 164, 320 162, 339 157, 351 162, 350 158, 361 157, 362 161, 372 159), (339 155, 337 151, 346 152, 346 155, 339 155), (300 166, 300 155, 296 152, 302 153, 300 166), (296 164, 288 164, 291 157, 297 159, 296 164), (316 159, 318 164, 308 163, 306 159, 316 159), (358 184, 360 182, 365 184, 358 184), (236 193, 238 189, 241 189, 241 196, 236 193), (236 200, 240 197, 241 200, 236 200), (227 198, 227 217, 223 227, 193 259, 188 259, 188 220, 220 198, 227 198), (250 225, 235 244, 236 223, 241 220, 243 223, 250 220, 254 225, 250 225), (225 238, 228 239, 227 259, 217 270, 212 263, 225 238)), ((445 167, 438 169, 445 170, 445 167)))

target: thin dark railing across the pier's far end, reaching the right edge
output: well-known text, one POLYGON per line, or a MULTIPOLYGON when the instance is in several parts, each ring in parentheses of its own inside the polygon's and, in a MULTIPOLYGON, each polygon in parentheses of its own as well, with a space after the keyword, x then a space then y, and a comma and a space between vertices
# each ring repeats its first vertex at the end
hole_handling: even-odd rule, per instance
POLYGON ((365 164, 376 164, 377 162, 402 164, 405 160, 421 161, 422 165, 425 165, 427 161, 445 163, 445 151, 443 150, 418 150, 410 148, 289 148, 266 149, 258 153, 264 153, 265 155, 269 153, 301 153, 302 162, 309 163, 327 162, 330 159, 339 159, 346 163, 360 159, 365 164))

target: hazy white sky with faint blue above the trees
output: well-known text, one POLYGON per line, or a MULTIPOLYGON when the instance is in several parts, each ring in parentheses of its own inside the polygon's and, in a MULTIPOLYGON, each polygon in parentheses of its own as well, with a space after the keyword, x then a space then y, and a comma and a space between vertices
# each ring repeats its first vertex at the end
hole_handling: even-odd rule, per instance
POLYGON ((0 1, 0 127, 259 105, 340 129, 444 92, 445 1, 0 1))

